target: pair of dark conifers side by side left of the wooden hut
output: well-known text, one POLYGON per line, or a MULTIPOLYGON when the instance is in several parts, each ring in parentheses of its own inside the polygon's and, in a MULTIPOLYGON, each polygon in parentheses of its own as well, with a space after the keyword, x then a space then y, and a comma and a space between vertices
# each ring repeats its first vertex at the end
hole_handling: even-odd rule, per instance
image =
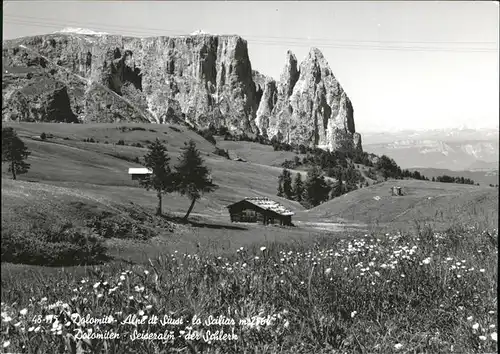
POLYGON ((183 153, 179 157, 177 165, 174 166, 174 170, 170 168, 167 148, 159 139, 150 144, 148 149, 148 153, 144 156, 144 166, 149 168, 152 173, 146 175, 140 184, 146 190, 156 191, 158 197, 156 214, 162 214, 162 195, 177 192, 191 200, 189 209, 183 218, 187 220, 201 195, 217 188, 212 183, 210 171, 205 166, 200 151, 196 148, 196 143, 193 140, 184 143, 183 153))

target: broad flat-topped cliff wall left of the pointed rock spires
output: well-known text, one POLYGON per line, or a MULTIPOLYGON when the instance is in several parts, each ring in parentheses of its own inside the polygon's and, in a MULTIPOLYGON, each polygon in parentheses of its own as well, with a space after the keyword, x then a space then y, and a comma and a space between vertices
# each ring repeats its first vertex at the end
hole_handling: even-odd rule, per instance
POLYGON ((55 68, 69 79, 82 122, 161 123, 180 113, 200 127, 255 130, 256 89, 238 36, 51 34, 5 41, 3 57, 8 66, 55 68))

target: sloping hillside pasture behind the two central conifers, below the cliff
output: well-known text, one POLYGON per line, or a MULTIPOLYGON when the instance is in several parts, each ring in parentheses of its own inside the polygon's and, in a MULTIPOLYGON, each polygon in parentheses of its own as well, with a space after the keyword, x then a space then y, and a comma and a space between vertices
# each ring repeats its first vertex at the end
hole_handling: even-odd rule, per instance
MULTIPOLYGON (((213 145, 196 133, 180 126, 174 126, 175 129, 181 130, 181 132, 177 132, 169 126, 129 124, 127 127, 142 126, 156 132, 132 131, 125 133, 116 129, 117 125, 108 124, 13 124, 12 126, 18 129, 20 136, 27 137, 25 141, 33 152, 30 157, 32 169, 22 176, 23 179, 46 183, 57 181, 58 184, 63 182, 63 185, 78 187, 89 193, 94 190, 99 194, 112 195, 121 203, 132 201, 148 207, 156 205, 154 193, 145 192, 127 174, 129 167, 139 167, 140 165, 113 156, 142 157, 146 154, 147 149, 103 144, 105 140, 117 142, 123 139, 126 143, 141 142, 146 144, 147 140, 152 141, 158 137, 168 146, 173 165, 177 161, 184 142, 188 139, 194 139, 202 151, 207 165, 212 170, 214 180, 220 186, 218 191, 203 198, 197 204, 195 212, 206 213, 205 209, 208 208, 210 212, 216 210, 220 213, 221 208, 245 196, 274 197, 276 190, 274 181, 281 173, 281 169, 278 167, 229 161, 217 156, 212 153, 215 149, 213 145), (39 135, 43 131, 54 134, 54 139, 43 142, 29 138, 39 135), (71 140, 62 140, 64 137, 69 137, 71 140), (100 143, 84 143, 81 141, 84 138, 94 138, 100 143), (127 194, 124 194, 125 191, 127 194)), ((6 166, 3 169, 5 173, 6 166)), ((303 209, 300 204, 293 201, 282 199, 281 202, 294 210, 303 209)), ((184 211, 188 205, 185 198, 176 195, 168 196, 166 203, 166 209, 174 212, 184 211)), ((224 210, 222 214, 227 213, 224 210)))

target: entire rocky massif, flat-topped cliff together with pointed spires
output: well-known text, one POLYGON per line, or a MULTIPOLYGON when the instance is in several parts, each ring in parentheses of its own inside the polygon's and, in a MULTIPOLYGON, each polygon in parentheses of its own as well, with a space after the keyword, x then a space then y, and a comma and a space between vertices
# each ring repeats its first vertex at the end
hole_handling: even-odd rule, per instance
POLYGON ((351 101, 322 53, 288 52, 279 80, 247 42, 196 32, 134 38, 78 29, 3 41, 2 120, 184 121, 282 142, 361 149, 351 101))

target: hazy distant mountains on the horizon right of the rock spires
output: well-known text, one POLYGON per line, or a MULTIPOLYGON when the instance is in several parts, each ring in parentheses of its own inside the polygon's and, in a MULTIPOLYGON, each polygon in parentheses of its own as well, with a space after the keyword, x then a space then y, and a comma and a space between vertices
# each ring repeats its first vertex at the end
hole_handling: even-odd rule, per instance
POLYGON ((364 133, 367 152, 388 155, 402 168, 498 170, 498 129, 364 133))

